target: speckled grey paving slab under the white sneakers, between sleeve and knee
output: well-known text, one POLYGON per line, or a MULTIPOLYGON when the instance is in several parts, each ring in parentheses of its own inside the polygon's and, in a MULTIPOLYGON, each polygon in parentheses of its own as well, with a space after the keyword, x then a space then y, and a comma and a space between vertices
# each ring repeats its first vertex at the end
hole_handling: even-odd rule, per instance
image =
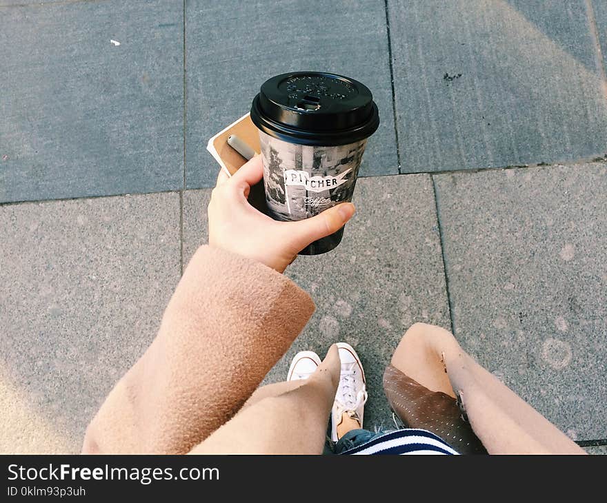
MULTIPOLYGON (((210 190, 186 192, 186 260, 207 240, 201 207, 209 196, 210 190)), ((381 380, 404 331, 417 321, 450 328, 434 194, 428 175, 361 178, 354 203, 357 213, 341 244, 324 255, 299 256, 286 271, 317 310, 265 382, 285 380, 297 351, 324 358, 333 342, 348 342, 366 372, 365 426, 388 428, 381 380)))

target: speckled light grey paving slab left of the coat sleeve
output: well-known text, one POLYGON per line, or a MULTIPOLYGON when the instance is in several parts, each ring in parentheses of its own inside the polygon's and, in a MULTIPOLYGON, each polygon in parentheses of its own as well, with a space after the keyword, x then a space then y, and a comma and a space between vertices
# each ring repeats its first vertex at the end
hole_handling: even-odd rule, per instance
POLYGON ((0 206, 0 452, 77 453, 179 281, 179 194, 0 206))

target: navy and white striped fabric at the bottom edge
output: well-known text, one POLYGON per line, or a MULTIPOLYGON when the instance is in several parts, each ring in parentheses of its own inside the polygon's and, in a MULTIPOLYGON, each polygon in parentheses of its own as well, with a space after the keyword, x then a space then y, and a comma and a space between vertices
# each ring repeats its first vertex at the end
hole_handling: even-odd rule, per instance
POLYGON ((403 429, 378 435, 342 454, 458 454, 430 431, 403 429))

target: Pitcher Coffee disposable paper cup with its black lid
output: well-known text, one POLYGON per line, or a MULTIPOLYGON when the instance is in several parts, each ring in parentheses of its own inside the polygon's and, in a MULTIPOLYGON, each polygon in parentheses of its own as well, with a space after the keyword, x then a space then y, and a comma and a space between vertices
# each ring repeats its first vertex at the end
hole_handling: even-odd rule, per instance
MULTIPOLYGON (((263 187, 275 220, 303 220, 352 201, 379 112, 366 85, 346 76, 295 72, 268 79, 251 107, 259 129, 263 187)), ((323 254, 344 227, 299 251, 323 254)))

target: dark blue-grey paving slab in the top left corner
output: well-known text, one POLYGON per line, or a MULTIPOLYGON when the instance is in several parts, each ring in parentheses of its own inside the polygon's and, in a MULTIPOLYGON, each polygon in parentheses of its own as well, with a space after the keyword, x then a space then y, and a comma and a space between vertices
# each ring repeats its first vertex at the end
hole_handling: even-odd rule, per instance
POLYGON ((0 202, 183 186, 181 3, 44 3, 0 16, 0 202))

